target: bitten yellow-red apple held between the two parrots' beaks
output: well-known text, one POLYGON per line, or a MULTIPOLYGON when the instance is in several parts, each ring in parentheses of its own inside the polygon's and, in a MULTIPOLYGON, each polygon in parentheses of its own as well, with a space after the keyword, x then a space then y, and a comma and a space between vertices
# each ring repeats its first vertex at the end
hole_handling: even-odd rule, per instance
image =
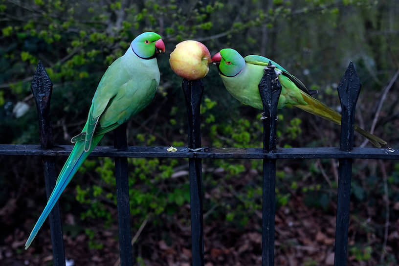
POLYGON ((188 80, 197 80, 208 74, 211 54, 197 41, 187 40, 176 45, 170 54, 169 64, 175 73, 188 80))

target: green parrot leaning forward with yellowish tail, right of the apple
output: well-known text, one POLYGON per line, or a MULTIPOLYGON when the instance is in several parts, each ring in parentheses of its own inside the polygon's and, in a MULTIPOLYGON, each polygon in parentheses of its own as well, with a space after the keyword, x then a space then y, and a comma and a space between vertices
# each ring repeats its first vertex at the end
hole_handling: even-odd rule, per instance
MULTIPOLYGON (((338 112, 314 99, 311 96, 314 91, 308 90, 299 79, 272 60, 259 55, 248 55, 243 58, 231 48, 222 49, 212 57, 212 63, 218 66, 219 74, 228 92, 240 102, 262 110, 263 104, 258 85, 269 61, 275 66, 274 71, 282 86, 277 108, 290 104, 341 125, 341 115, 338 112)), ((368 138, 378 148, 381 144, 387 144, 386 141, 356 125, 355 131, 368 138)))

